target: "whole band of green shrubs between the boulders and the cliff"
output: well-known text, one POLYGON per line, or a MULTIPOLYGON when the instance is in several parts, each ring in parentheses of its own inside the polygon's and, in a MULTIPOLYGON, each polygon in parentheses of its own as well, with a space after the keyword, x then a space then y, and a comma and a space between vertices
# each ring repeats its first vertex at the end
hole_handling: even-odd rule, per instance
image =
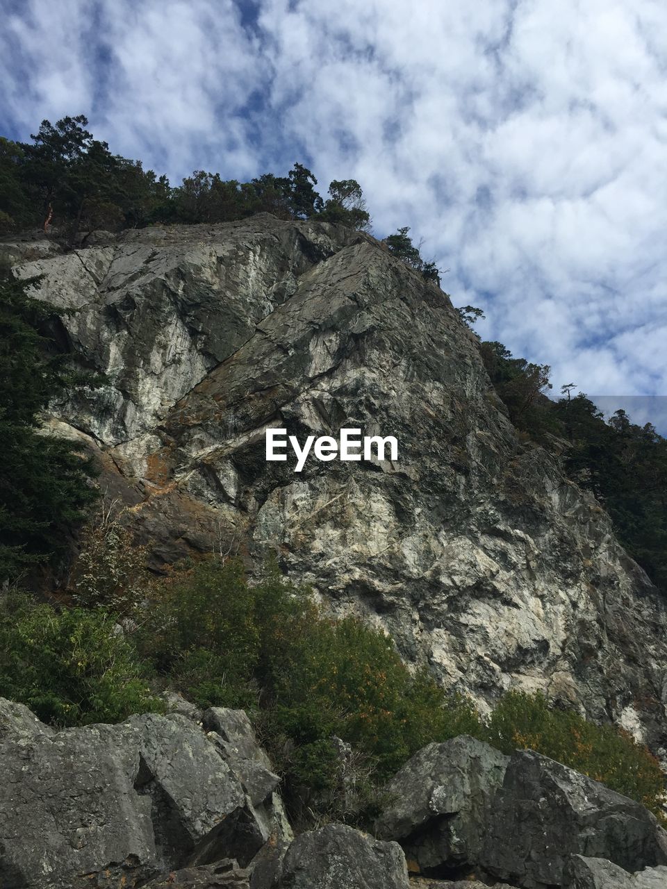
POLYGON ((522 693, 505 695, 485 722, 470 701, 407 669, 382 632, 327 617, 275 568, 250 584, 237 561, 205 559, 144 583, 138 602, 129 588, 141 552, 115 523, 100 539, 110 528, 118 563, 111 586, 122 614, 101 605, 111 589, 109 557, 94 543, 74 575, 89 578, 84 592, 73 581, 76 608, 12 597, 0 610, 0 695, 40 717, 58 725, 116 721, 162 709, 160 689, 201 707, 244 707, 295 813, 309 807, 363 821, 408 757, 462 733, 507 751, 539 750, 658 811, 657 761, 615 728, 522 693), (344 756, 341 742, 350 745, 344 756))

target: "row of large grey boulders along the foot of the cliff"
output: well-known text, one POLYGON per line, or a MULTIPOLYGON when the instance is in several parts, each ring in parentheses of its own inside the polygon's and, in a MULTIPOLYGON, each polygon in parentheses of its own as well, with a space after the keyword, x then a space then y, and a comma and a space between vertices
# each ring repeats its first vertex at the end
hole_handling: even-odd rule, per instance
POLYGON ((170 702, 180 712, 57 732, 0 699, 0 885, 409 889, 408 871, 414 889, 667 885, 667 833, 641 805, 465 736, 406 763, 375 837, 293 837, 245 713, 170 702))

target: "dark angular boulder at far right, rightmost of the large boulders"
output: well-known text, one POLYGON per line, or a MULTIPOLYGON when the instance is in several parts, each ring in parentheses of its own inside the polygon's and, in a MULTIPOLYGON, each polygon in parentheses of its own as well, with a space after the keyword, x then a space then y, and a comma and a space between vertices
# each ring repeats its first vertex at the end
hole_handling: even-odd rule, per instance
POLYGON ((667 833, 639 803, 532 750, 514 753, 479 863, 529 889, 563 885, 570 855, 625 871, 667 864, 667 833))

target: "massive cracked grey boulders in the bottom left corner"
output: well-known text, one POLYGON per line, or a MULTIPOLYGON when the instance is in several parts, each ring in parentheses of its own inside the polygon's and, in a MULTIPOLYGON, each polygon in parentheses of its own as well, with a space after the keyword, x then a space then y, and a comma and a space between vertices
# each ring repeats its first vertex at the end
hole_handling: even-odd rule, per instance
POLYGON ((132 886, 187 863, 245 866, 280 828, 261 805, 271 791, 253 802, 228 759, 178 714, 53 732, 0 701, 0 885, 132 886))

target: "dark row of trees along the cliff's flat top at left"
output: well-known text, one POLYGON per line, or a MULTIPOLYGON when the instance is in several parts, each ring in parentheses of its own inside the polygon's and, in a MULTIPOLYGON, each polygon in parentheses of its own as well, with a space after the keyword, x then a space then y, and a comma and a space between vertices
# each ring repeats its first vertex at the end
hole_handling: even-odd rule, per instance
POLYGON ((155 222, 225 222, 257 212, 282 219, 318 219, 367 228, 370 217, 355 180, 334 180, 320 196, 302 164, 286 176, 264 173, 250 182, 196 170, 173 188, 141 161, 114 155, 86 129, 84 116, 42 121, 32 142, 0 138, 0 235, 51 228, 65 243, 105 228, 155 222))

